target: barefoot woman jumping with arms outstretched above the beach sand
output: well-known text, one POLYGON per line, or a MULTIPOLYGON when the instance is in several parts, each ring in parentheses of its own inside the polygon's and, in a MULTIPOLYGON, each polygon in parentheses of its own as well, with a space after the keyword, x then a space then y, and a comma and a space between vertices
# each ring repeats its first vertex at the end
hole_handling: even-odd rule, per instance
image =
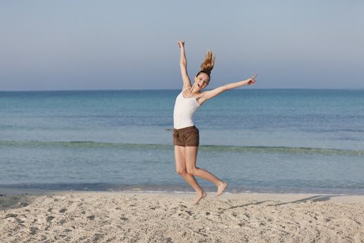
POLYGON ((205 60, 202 62, 200 72, 193 78, 193 85, 187 74, 187 60, 184 51, 184 41, 178 40, 180 47, 180 67, 183 79, 182 92, 178 94, 175 100, 175 107, 173 110, 173 144, 175 145, 175 169, 180 176, 182 176, 197 192, 197 197, 193 200, 192 205, 195 205, 201 199, 207 196, 206 192, 198 185, 196 178, 204 178, 214 183, 217 187, 216 196, 220 196, 227 187, 225 181, 221 181, 216 176, 211 174, 205 169, 196 167, 196 158, 198 153, 198 145, 200 143, 198 128, 193 124, 193 112, 202 106, 205 101, 216 97, 218 94, 231 90, 243 85, 253 85, 255 83, 253 76, 248 80, 236 83, 228 83, 214 90, 207 90, 201 92, 210 81, 210 73, 214 68, 215 55, 211 51, 207 51, 205 60))

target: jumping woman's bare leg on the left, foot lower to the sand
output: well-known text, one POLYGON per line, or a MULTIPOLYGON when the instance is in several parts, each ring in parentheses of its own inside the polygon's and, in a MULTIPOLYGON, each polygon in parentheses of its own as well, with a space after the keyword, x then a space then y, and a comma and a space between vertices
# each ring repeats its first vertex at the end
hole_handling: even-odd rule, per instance
POLYGON ((193 175, 187 173, 184 146, 175 145, 175 171, 177 171, 177 173, 182 176, 184 180, 186 180, 187 183, 189 183, 189 185, 191 185, 191 187, 193 187, 193 189, 197 192, 198 196, 193 201, 193 204, 198 203, 200 199, 203 199, 205 196, 207 196, 200 185, 198 185, 196 178, 193 175))

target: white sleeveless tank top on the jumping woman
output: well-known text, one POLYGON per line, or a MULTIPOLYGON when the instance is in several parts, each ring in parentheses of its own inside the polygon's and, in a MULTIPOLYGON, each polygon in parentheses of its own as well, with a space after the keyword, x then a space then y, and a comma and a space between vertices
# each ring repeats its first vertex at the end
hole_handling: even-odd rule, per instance
POLYGON ((173 110, 173 127, 175 129, 193 126, 193 112, 195 112, 196 109, 200 107, 196 97, 184 98, 182 92, 180 92, 180 94, 178 94, 177 98, 175 99, 175 108, 173 110))

